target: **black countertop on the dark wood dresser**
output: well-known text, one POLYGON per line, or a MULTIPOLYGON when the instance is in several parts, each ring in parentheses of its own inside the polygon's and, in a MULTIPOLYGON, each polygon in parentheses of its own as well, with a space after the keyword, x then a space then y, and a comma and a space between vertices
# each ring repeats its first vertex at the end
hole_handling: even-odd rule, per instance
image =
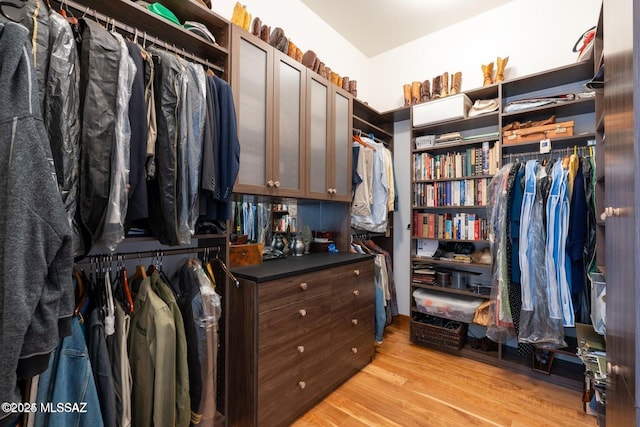
POLYGON ((232 268, 231 272, 238 279, 251 280, 253 282, 267 282, 269 280, 282 279, 296 274, 309 273, 328 267, 351 264, 354 262, 372 259, 373 255, 353 254, 350 252, 315 253, 303 256, 290 256, 283 259, 264 261, 262 264, 246 267, 232 268))

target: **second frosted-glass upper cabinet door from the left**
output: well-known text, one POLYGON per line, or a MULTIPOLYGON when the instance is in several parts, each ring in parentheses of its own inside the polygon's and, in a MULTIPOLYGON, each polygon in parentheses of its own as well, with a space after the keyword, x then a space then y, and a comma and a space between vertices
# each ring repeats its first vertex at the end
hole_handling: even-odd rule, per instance
POLYGON ((274 192, 304 195, 306 67, 287 55, 274 57, 274 192))

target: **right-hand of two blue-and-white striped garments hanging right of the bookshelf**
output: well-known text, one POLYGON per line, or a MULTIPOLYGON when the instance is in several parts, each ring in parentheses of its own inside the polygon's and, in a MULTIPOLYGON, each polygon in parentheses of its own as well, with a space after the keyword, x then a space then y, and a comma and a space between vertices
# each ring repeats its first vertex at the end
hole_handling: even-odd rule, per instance
POLYGON ((565 252, 569 231, 569 197, 567 171, 558 160, 553 165, 551 190, 547 201, 547 293, 549 315, 552 319, 563 319, 564 326, 574 326, 575 318, 571 289, 567 281, 567 256, 565 252))

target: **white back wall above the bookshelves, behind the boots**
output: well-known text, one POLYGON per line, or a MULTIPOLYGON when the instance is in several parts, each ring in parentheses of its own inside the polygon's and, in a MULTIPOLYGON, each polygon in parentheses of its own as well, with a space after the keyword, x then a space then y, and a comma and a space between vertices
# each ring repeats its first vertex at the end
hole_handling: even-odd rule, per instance
POLYGON ((375 90, 359 93, 379 111, 403 105, 402 85, 462 72, 462 90, 482 86, 482 64, 509 56, 507 79, 575 62, 578 37, 598 22, 602 0, 514 0, 372 58, 375 90))

